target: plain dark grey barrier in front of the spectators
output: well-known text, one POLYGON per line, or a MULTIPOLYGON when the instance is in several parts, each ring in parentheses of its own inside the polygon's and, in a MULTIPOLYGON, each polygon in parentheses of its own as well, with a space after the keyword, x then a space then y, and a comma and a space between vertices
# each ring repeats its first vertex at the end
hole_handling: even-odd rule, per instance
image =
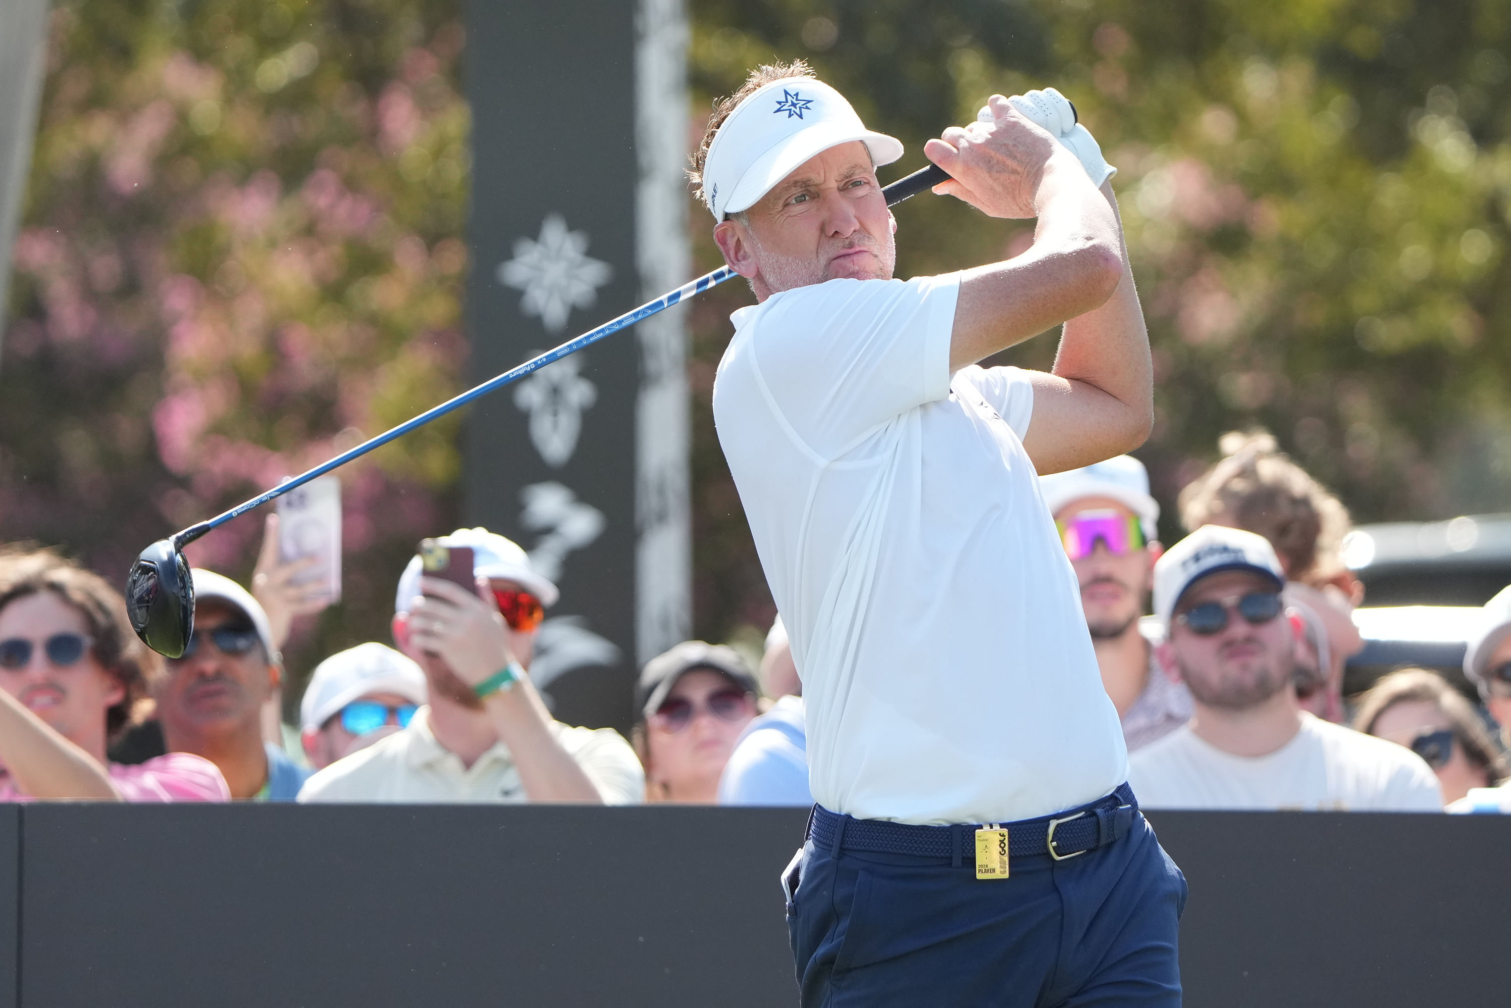
MULTIPOLYGON (((18 978, 0 1008, 796 1000, 777 873, 801 810, 0 812, 0 864, 18 866, 0 872, 0 976, 18 978)), ((1151 819, 1191 883, 1188 1005, 1503 991, 1511 819, 1151 819)))

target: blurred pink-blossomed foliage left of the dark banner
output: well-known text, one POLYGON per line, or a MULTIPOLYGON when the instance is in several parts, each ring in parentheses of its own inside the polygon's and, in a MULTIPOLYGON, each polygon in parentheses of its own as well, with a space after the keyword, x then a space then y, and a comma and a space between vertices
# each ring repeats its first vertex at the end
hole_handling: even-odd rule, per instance
MULTIPOLYGON (((455 3, 73 0, 50 45, 0 530, 124 577, 151 540, 455 393, 462 30, 455 3)), ((452 420, 341 472, 348 600, 296 651, 385 639, 458 468, 452 420)), ((242 518, 190 558, 245 576, 260 535, 242 518)))

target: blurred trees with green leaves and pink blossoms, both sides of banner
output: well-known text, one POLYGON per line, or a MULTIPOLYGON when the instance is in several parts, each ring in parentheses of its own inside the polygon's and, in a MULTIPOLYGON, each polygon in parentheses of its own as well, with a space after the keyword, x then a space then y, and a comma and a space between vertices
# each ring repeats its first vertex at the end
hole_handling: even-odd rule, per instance
MULTIPOLYGON (((1055 85, 1118 166, 1166 506, 1266 426, 1358 520, 1511 500, 1511 8, 1491 0, 692 0, 694 109, 805 57, 923 163, 993 91, 1055 85)), ((141 546, 455 391, 465 62, 453 0, 65 0, 0 366, 0 540, 109 576, 141 546)), ((899 274, 1026 245, 920 196, 899 274)), ((712 224, 691 210, 700 266, 712 224)), ((694 302, 695 629, 772 617, 713 434, 725 284, 694 302)), ((603 305, 607 317, 627 305, 603 305)), ((1053 334, 1003 360, 1047 366, 1053 334)), ((456 426, 343 475, 346 601, 296 645, 385 639, 455 524, 456 426)), ((246 574, 260 518, 199 544, 246 574)), ((304 669, 307 671, 307 669, 304 669)))

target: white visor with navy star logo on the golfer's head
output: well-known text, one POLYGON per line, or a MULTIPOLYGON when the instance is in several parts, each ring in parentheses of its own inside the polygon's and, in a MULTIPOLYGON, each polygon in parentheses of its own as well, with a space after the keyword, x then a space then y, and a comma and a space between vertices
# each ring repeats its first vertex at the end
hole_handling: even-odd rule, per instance
POLYGON ((816 77, 783 77, 752 91, 719 125, 703 162, 703 199, 715 221, 748 210, 799 165, 861 141, 875 166, 902 157, 902 141, 867 130, 845 95, 816 77))

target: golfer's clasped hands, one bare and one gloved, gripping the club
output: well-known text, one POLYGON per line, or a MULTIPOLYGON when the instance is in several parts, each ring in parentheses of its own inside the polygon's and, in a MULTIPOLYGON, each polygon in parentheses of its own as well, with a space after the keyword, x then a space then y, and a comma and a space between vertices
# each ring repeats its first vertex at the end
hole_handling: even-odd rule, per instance
POLYGON ((1052 159, 1079 163, 1040 125, 1031 122, 1002 95, 991 95, 994 122, 952 125, 923 153, 949 172, 950 180, 934 187, 956 196, 993 218, 1037 216, 1034 198, 1052 159))

